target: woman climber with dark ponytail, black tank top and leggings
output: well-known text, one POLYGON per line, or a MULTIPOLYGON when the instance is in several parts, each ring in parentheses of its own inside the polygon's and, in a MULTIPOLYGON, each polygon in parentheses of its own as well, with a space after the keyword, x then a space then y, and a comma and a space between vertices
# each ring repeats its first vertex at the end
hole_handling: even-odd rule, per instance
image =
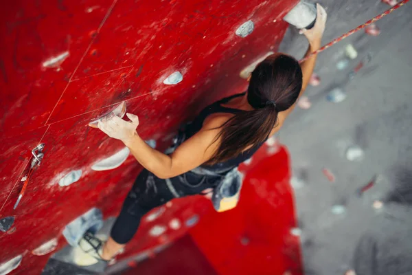
MULTIPOLYGON (((318 4, 314 27, 301 30, 309 42, 306 56, 321 46, 326 17, 318 4)), ((144 214, 171 199, 209 188, 214 188, 212 201, 220 210, 225 197, 236 197, 240 190, 236 168, 282 127, 306 89, 316 59, 310 56, 299 65, 286 54, 268 56, 252 72, 247 91, 203 109, 179 133, 170 155, 139 137, 137 115, 127 113, 130 122, 117 116, 100 121, 98 128, 124 142, 144 170, 124 200, 108 241, 87 232, 80 248, 95 259, 109 261, 132 239, 144 214)))

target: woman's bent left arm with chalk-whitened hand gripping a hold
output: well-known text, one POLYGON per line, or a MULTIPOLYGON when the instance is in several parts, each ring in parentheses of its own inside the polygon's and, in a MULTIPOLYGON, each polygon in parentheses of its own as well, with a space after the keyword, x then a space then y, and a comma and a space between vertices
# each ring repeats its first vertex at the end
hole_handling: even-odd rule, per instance
POLYGON ((200 166, 207 162, 217 149, 218 142, 213 142, 219 131, 214 129, 216 123, 204 125, 201 131, 183 142, 172 155, 165 155, 141 139, 136 131, 139 125, 137 115, 127 113, 127 116, 130 122, 111 116, 98 122, 98 128, 109 137, 121 140, 130 148, 141 166, 161 179, 175 177, 200 166))

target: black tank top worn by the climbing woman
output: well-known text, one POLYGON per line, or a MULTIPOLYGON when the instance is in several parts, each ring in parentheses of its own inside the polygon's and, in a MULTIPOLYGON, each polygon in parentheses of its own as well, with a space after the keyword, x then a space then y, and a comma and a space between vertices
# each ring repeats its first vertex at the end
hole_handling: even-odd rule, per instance
MULTIPOLYGON (((185 140, 188 138, 192 137, 195 133, 200 131, 203 126, 203 122, 207 118, 208 115, 211 115, 212 113, 239 113, 242 112, 242 110, 239 109, 232 109, 228 107, 223 107, 221 104, 225 104, 229 102, 229 100, 233 98, 237 98, 240 96, 244 96, 244 94, 236 94, 234 96, 229 96, 229 98, 223 98, 222 100, 219 100, 217 102, 214 102, 213 104, 210 104, 208 107, 203 109, 201 113, 196 116, 196 118, 193 120, 193 122, 189 125, 187 125, 185 129, 185 140)), ((263 144, 263 143, 262 143, 263 144)), ((236 166, 239 166, 242 162, 245 160, 249 159, 258 149, 262 144, 258 144, 253 146, 247 151, 244 151, 240 153, 238 156, 233 157, 233 159, 228 159, 226 162, 214 164, 214 165, 202 165, 201 167, 207 168, 209 170, 216 170, 217 172, 221 170, 230 170, 231 168, 234 168, 236 166)))

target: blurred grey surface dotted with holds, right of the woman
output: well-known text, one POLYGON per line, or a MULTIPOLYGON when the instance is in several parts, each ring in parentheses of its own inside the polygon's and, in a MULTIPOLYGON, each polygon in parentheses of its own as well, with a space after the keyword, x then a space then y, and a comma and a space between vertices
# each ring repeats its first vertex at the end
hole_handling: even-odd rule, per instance
MULTIPOLYGON (((328 12, 323 43, 390 8, 371 0, 321 4, 328 12)), ((354 268, 356 243, 387 212, 385 197, 411 180, 404 176, 411 175, 412 164, 411 14, 412 3, 407 3, 376 23, 379 36, 360 31, 320 54, 315 72, 321 84, 305 94, 312 107, 297 107, 279 133, 292 159, 306 275, 342 275, 354 268), (336 63, 350 43, 358 57, 339 71, 336 63), (367 54, 371 61, 350 80, 348 74, 367 54), (326 100, 334 87, 346 91, 346 100, 326 100), (345 157, 352 145, 363 148, 361 161, 345 157), (323 168, 336 181, 328 181, 323 168), (356 195, 376 175, 376 184, 363 196, 356 195), (376 200, 384 202, 382 208, 373 207, 376 200)), ((306 47, 306 39, 290 28, 280 51, 300 58, 306 47)))

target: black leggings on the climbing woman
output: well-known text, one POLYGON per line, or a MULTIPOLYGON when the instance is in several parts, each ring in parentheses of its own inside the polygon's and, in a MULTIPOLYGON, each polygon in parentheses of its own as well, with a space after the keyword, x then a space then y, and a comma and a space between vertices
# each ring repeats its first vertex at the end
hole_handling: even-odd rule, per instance
POLYGON ((159 179, 144 169, 124 200, 111 237, 116 243, 125 244, 133 238, 141 218, 153 208, 177 198, 196 195, 217 186, 220 177, 196 175, 188 172, 171 179, 159 179))

